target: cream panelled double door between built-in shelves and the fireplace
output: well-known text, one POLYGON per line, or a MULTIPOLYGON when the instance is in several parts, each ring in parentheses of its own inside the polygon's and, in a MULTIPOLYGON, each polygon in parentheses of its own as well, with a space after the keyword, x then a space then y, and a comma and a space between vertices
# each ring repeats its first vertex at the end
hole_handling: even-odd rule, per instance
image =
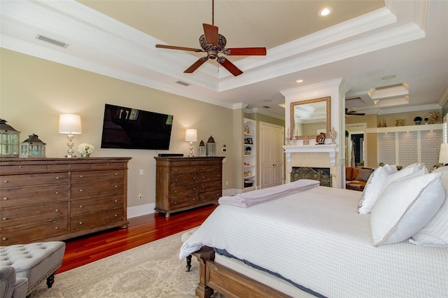
POLYGON ((260 187, 283 183, 283 127, 260 123, 260 187))

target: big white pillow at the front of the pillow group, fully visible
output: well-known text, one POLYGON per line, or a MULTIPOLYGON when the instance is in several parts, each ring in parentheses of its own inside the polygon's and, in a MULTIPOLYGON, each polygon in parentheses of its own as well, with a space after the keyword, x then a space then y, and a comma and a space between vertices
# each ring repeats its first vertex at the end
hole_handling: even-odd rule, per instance
POLYGON ((405 177, 384 189, 370 213, 374 246, 409 239, 433 218, 445 198, 440 175, 405 177))

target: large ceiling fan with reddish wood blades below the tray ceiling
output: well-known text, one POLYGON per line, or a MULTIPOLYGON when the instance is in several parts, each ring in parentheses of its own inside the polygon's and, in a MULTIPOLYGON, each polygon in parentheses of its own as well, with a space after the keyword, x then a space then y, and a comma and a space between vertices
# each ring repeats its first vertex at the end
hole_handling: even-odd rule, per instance
POLYGON ((228 56, 265 56, 266 48, 225 48, 227 40, 221 34, 218 34, 218 27, 214 25, 214 0, 212 1, 212 24, 202 24, 204 27, 204 34, 199 38, 199 43, 202 49, 178 47, 175 45, 155 45, 155 48, 165 48, 171 50, 186 50, 191 52, 207 52, 207 56, 201 57, 197 62, 193 63, 184 73, 193 73, 208 59, 216 59, 225 69, 230 71, 232 75, 239 76, 243 71, 238 69, 235 64, 230 62, 226 57, 218 56, 224 54, 228 56))

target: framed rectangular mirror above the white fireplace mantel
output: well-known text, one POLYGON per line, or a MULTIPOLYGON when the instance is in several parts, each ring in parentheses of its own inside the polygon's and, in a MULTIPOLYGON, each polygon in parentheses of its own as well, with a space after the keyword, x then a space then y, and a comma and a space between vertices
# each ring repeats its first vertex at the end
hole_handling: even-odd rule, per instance
POLYGON ((290 138, 314 139, 331 129, 330 97, 295 101, 290 104, 290 138))

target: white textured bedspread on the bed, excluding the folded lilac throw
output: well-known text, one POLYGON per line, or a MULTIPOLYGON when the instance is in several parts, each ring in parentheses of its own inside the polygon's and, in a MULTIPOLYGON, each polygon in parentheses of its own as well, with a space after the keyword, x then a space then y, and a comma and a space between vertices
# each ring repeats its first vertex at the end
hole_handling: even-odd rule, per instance
POLYGON ((316 187, 251 208, 218 206, 180 257, 221 248, 326 297, 448 297, 448 249, 374 247, 360 192, 316 187))

